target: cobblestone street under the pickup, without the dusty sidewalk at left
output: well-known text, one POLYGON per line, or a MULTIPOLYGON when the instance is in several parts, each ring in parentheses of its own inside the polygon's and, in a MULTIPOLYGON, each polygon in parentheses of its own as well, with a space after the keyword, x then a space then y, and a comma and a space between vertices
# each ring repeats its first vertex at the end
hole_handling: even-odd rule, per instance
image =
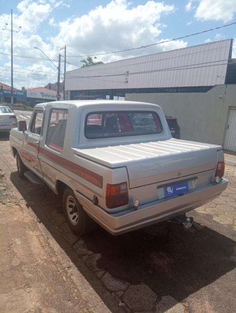
MULTIPOLYGON (((84 275, 111 311, 116 307, 100 288, 113 296, 118 308, 130 313, 228 313, 236 307, 235 166, 226 166, 228 189, 193 212, 196 222, 191 231, 162 223, 112 236, 98 227, 85 238, 71 233, 61 214, 59 196, 48 187, 38 188, 18 178, 8 141, 0 142, 0 168, 25 218, 32 215, 43 225, 50 234, 48 241, 52 244, 53 238, 54 246, 66 252, 76 271, 84 275)), ((71 272, 72 277, 75 274, 71 272)))

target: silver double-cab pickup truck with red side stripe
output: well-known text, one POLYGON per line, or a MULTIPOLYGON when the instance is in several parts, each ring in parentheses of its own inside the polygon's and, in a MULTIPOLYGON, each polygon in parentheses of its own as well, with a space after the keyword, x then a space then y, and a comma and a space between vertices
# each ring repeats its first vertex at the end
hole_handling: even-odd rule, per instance
POLYGON ((228 183, 222 147, 173 139, 151 103, 39 104, 28 129, 20 121, 11 130, 10 144, 20 177, 63 193, 67 222, 80 235, 95 222, 117 235, 169 220, 228 183))

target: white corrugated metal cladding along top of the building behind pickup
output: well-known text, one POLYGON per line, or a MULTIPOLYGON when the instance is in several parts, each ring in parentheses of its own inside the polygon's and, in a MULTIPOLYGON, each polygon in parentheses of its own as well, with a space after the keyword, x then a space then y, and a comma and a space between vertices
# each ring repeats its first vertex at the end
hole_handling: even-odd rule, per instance
POLYGON ((224 84, 232 39, 85 67, 66 73, 66 90, 224 84))

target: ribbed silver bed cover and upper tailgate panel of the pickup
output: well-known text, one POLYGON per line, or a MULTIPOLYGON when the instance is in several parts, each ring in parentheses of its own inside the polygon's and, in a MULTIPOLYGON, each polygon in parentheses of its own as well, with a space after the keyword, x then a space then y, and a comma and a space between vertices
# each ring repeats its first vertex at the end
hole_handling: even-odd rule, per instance
POLYGON ((212 170, 221 146, 169 139, 93 149, 76 154, 109 168, 126 167, 129 188, 212 170))

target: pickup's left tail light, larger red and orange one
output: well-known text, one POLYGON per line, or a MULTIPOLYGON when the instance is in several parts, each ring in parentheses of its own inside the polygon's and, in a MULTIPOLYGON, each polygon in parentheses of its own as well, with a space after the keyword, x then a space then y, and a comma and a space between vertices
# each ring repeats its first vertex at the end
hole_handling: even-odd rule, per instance
POLYGON ((126 182, 115 185, 107 184, 106 205, 108 208, 125 205, 128 202, 129 196, 126 182))

